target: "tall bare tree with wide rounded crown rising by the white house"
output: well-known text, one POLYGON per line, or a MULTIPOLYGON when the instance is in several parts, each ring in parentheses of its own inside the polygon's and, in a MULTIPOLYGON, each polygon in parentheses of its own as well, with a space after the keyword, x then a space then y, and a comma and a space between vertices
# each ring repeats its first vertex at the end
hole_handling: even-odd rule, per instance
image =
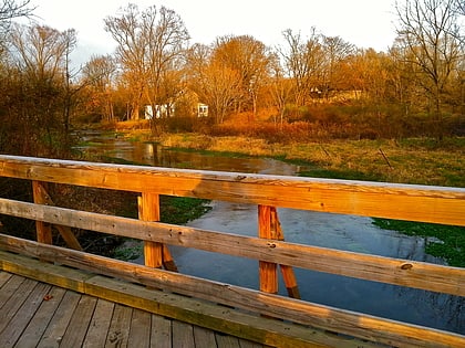
POLYGON ((136 4, 128 4, 120 17, 106 18, 105 30, 117 43, 116 56, 133 91, 132 118, 137 119, 144 97, 153 106, 164 103, 163 76, 177 68, 188 32, 173 10, 149 7, 141 12, 136 4))

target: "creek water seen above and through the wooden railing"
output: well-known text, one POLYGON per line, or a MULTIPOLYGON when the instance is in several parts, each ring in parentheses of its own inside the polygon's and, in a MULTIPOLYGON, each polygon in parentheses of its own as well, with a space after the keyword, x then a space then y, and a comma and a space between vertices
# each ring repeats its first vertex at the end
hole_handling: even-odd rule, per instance
MULTIPOLYGON (((82 151, 156 167, 296 176, 306 168, 267 158, 231 158, 192 151, 173 151, 151 143, 84 134, 82 151)), ((286 241, 381 256, 444 264, 425 253, 425 239, 382 230, 372 219, 278 209, 286 241)), ((257 207, 213 201, 211 210, 188 223, 227 233, 257 235, 257 207)), ((178 246, 172 254, 183 274, 258 288, 258 262, 178 246)), ((140 257, 135 262, 142 263, 140 257)), ((361 281, 307 270, 294 270, 306 300, 411 324, 465 334, 465 298, 402 286, 361 281)), ((280 280, 280 294, 286 287, 280 280)))

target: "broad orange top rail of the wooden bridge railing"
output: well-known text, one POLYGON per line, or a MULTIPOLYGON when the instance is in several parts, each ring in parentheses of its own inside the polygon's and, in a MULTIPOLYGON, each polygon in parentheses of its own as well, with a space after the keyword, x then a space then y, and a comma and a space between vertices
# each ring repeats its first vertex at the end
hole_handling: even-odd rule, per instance
POLYGON ((0 176, 465 225, 465 189, 0 156, 0 176))

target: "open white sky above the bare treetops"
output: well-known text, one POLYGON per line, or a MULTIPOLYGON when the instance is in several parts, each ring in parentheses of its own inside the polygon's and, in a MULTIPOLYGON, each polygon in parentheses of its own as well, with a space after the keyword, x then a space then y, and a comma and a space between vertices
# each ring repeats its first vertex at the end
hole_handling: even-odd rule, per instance
POLYGON ((184 21, 192 43, 210 44, 217 36, 248 34, 269 46, 283 45, 282 31, 303 38, 311 28, 340 36, 358 48, 386 51, 395 38, 395 0, 31 0, 40 24, 75 29, 74 63, 92 55, 111 54, 115 42, 104 30, 104 19, 115 17, 130 2, 140 9, 164 6, 184 21))

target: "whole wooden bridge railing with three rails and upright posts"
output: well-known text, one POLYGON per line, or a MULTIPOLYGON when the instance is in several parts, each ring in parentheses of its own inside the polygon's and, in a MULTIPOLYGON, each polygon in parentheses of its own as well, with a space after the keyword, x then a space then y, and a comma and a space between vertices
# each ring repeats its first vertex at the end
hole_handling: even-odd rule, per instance
POLYGON ((283 320, 401 347, 464 347, 465 337, 276 295, 281 265, 289 295, 298 297, 292 267, 465 296, 465 270, 283 241, 276 208, 465 225, 465 189, 281 176, 120 166, 0 156, 0 177, 31 180, 34 203, 0 199, 0 214, 38 221, 38 242, 0 236, 0 249, 142 283, 153 288, 244 308, 283 320), (53 207, 46 183, 140 193, 140 220, 53 207), (156 222, 159 194, 196 197, 258 207, 259 238, 156 222), (70 249, 51 244, 50 224, 70 249), (79 228, 143 240, 137 266, 80 251, 79 228), (260 291, 175 272, 167 245, 256 259, 260 291))

